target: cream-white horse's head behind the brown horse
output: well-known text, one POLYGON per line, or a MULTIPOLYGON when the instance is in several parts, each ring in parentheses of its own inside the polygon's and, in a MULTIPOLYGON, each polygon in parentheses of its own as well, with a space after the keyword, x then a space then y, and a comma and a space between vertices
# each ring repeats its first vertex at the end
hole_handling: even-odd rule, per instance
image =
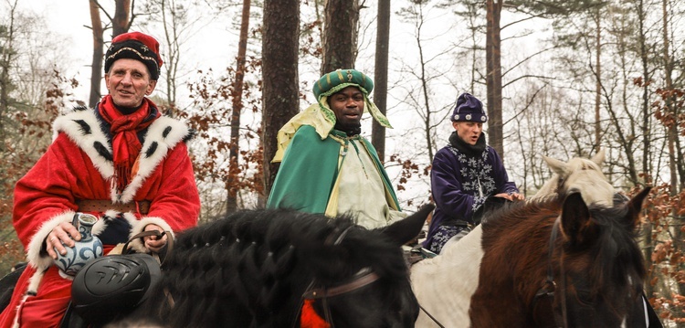
POLYGON ((579 192, 585 204, 611 206, 616 191, 602 173, 605 151, 600 150, 591 159, 574 157, 568 163, 543 155, 544 161, 553 172, 552 177, 533 196, 538 199, 550 195, 566 195, 579 192))

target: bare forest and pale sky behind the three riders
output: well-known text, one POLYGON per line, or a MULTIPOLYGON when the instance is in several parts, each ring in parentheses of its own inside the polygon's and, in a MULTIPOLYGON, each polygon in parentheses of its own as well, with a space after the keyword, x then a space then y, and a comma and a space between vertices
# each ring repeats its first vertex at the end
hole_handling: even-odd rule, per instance
POLYGON ((679 0, 0 0, 0 276, 24 259, 11 225, 16 180, 51 122, 102 96, 112 37, 161 43, 153 100, 197 130, 190 143, 202 221, 263 206, 279 127, 338 68, 374 77, 370 117, 406 211, 430 201, 433 154, 467 91, 488 108, 488 142, 532 196, 560 160, 606 150, 604 172, 631 195, 655 186, 639 241, 646 292, 685 327, 685 5, 679 0))

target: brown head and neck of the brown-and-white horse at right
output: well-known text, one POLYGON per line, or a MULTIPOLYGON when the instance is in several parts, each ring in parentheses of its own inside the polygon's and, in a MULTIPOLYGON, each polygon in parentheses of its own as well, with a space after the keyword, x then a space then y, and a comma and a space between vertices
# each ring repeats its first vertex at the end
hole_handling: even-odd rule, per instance
POLYGON ((490 213, 472 326, 644 327, 635 231, 649 189, 618 206, 573 192, 490 213))

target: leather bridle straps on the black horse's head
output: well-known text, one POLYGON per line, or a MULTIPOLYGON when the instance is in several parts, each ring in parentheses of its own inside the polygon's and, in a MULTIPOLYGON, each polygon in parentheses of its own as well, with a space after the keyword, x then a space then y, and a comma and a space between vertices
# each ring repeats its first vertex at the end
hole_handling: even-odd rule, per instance
MULTIPOLYGON (((336 228, 331 234, 331 236, 326 238, 324 245, 340 245, 342 243, 342 239, 344 239, 345 236, 347 236, 347 233, 353 227, 354 226, 346 227, 344 230, 342 230, 342 233, 335 239, 335 241, 332 241, 333 235, 335 234, 335 232, 338 231, 338 229, 336 228)), ((352 276, 349 282, 343 283, 341 285, 335 285, 332 287, 325 285, 317 287, 318 282, 316 281, 316 278, 312 279, 309 286, 302 294, 300 309, 298 310, 298 314, 295 316, 292 326, 296 327, 296 324, 298 323, 298 318, 302 312, 302 306, 304 305, 305 301, 321 300, 321 302, 323 303, 323 319, 326 321, 326 323, 330 325, 331 328, 333 328, 331 308, 328 305, 328 299, 348 293, 350 291, 356 291, 379 279, 380 276, 378 276, 378 274, 375 273, 374 270, 370 267, 362 268, 361 270, 357 271, 357 273, 355 273, 352 276)))

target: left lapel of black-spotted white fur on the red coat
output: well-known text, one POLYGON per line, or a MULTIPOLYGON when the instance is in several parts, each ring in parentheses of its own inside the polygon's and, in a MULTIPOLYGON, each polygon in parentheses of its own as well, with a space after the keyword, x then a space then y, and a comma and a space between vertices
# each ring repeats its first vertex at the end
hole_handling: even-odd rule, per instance
POLYGON ((95 116, 95 111, 93 110, 83 110, 83 111, 70 111, 65 115, 59 116, 55 122, 52 123, 53 135, 52 138, 55 140, 58 136, 58 132, 64 132, 67 134, 68 138, 76 143, 79 148, 90 157, 90 161, 98 169, 100 175, 102 175, 105 180, 110 179, 114 175, 114 164, 102 157, 95 149, 94 144, 101 143, 108 152, 111 152, 111 144, 107 140, 107 135, 102 132, 100 128, 100 122, 95 116), (88 124, 90 127, 90 133, 85 133, 83 128, 77 121, 82 121, 88 124))

